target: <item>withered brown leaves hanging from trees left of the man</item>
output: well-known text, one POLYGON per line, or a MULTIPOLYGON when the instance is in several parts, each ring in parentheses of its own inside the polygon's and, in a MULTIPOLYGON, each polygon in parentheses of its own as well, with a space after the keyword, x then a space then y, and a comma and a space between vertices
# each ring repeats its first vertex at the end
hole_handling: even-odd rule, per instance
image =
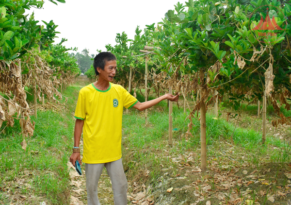
POLYGON ((62 99, 62 95, 57 87, 61 83, 72 83, 75 79, 72 73, 64 71, 58 72, 60 78, 57 79, 58 68, 49 68, 49 64, 36 51, 29 52, 30 55, 24 62, 15 60, 8 64, 0 61, 0 127, 3 121, 7 122, 7 126, 13 126, 14 119, 18 119, 25 137, 33 136, 35 122, 30 118, 32 110, 26 101, 24 87, 32 88, 33 94, 36 94, 40 101, 42 94, 45 94, 47 99, 58 102, 54 94, 59 99, 62 99), (21 69, 24 68, 29 71, 22 75, 21 69))

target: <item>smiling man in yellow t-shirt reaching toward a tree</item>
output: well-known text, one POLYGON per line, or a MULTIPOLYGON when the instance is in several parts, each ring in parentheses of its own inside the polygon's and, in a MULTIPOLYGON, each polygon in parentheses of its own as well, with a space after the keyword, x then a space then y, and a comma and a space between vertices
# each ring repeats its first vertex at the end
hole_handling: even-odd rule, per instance
POLYGON ((81 164, 80 138, 83 130, 86 163, 86 189, 88 205, 100 205, 97 197, 98 180, 105 166, 112 181, 115 205, 127 205, 127 179, 121 161, 121 124, 123 107, 143 111, 162 100, 178 101, 178 95, 165 94, 160 98, 138 102, 121 85, 111 82, 116 72, 116 57, 111 52, 100 52, 94 58, 97 82, 83 87, 75 111, 75 134, 70 162, 81 164))

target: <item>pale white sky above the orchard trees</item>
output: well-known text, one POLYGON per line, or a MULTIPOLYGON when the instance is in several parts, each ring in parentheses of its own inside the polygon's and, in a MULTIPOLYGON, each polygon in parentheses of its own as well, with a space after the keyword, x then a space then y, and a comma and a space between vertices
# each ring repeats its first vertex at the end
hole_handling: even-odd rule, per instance
MULTIPOLYGON (((174 10, 179 0, 66 0, 55 5, 45 1, 43 9, 28 10, 34 12, 34 19, 49 22, 53 20, 56 31, 61 32, 55 39, 62 38, 67 48, 77 47, 78 52, 89 49, 97 54, 97 49, 106 51, 105 45, 115 45, 117 33, 125 32, 134 39, 137 25, 144 30, 146 25, 162 21, 165 13, 174 10)), ((180 1, 185 4, 185 0, 180 1)), ((27 13, 26 13, 27 14, 27 13)))

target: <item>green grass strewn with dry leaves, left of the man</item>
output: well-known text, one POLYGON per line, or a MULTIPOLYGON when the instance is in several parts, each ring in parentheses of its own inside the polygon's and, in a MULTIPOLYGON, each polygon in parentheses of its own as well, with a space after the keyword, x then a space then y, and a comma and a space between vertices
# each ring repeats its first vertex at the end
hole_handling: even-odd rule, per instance
MULTIPOLYGON (((52 205, 69 203, 70 178, 67 161, 72 146, 74 120, 72 112, 78 97, 78 87, 68 87, 64 95, 70 96, 64 112, 38 111, 35 130, 27 137, 24 151, 19 120, 14 127, 6 127, 0 136, 0 204, 52 205)), ((33 99, 28 94, 28 99, 33 99)), ((3 123, 0 130, 5 127, 3 123)))

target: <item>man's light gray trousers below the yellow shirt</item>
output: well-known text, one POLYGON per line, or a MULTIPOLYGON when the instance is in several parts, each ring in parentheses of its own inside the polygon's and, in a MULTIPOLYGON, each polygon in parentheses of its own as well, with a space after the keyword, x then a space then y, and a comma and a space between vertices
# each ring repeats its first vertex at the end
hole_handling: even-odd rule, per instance
POLYGON ((108 163, 85 165, 88 205, 100 205, 97 187, 104 166, 111 179, 114 205, 127 205, 128 184, 121 159, 108 163))

